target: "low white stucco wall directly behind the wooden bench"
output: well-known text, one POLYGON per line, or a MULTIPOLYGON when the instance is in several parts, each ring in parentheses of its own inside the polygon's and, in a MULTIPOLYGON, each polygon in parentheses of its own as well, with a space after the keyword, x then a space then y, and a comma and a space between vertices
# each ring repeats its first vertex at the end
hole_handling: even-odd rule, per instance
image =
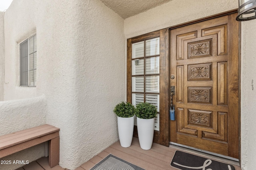
POLYGON ((46 123, 46 98, 2 101, 0 113, 0 135, 43 125, 46 123))

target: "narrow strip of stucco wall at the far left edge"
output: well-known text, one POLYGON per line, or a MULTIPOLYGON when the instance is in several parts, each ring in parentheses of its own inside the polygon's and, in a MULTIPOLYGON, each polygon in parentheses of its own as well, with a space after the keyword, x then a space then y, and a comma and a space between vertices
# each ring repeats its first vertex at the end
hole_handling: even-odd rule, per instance
POLYGON ((4 100, 4 12, 0 12, 0 101, 4 100))

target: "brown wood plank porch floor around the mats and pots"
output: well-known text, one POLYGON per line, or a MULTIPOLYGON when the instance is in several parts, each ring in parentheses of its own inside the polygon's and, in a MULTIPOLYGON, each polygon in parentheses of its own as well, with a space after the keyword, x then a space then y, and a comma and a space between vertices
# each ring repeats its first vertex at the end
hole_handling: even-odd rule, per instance
MULTIPOLYGON (((182 150, 177 147, 165 147, 162 145, 158 145, 153 143, 152 148, 150 150, 143 150, 140 148, 140 144, 138 138, 133 138, 132 145, 128 148, 121 147, 119 141, 108 147, 107 149, 100 152, 98 155, 91 158, 88 162, 82 164, 75 170, 90 170, 95 164, 100 162, 103 158, 105 158, 108 154, 113 154, 119 158, 122 158, 132 164, 140 166, 146 170, 177 170, 170 166, 170 162, 172 161, 172 157, 176 150, 182 150)), ((189 150, 182 150, 184 152, 190 152, 192 154, 196 154, 202 157, 208 157, 206 154, 196 153, 189 150)), ((225 163, 233 164, 236 170, 241 170, 241 168, 237 165, 236 162, 229 161, 226 162, 220 158, 209 157, 212 160, 217 160, 225 163)), ((31 162, 28 165, 23 166, 23 168, 19 168, 17 170, 65 170, 60 166, 55 166, 54 168, 50 168, 48 165, 48 158, 40 158, 34 162, 31 162)))

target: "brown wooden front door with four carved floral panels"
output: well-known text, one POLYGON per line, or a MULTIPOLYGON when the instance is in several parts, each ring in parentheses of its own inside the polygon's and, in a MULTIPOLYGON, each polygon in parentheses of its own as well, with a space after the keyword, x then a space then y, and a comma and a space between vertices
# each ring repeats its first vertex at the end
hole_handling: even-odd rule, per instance
POLYGON ((170 141, 238 158, 239 23, 230 14, 170 30, 170 141))

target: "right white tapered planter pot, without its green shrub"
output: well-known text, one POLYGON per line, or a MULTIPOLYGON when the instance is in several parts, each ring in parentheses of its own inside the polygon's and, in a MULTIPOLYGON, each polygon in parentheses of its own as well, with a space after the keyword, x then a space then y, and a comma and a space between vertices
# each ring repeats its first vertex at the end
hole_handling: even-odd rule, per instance
POLYGON ((137 117, 137 129, 141 149, 151 149, 154 137, 154 123, 154 118, 140 119, 137 117))

